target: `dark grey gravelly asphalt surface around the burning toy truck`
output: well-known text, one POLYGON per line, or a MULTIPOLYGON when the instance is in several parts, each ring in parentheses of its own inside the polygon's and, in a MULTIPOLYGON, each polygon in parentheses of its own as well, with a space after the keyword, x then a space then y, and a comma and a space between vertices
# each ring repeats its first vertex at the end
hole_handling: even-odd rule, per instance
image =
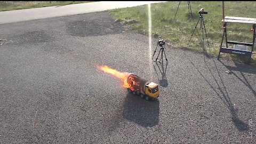
POLYGON ((149 65, 148 37, 107 12, 0 31, 1 143, 255 143, 253 66, 168 46, 168 65, 149 65), (161 97, 127 94, 97 65, 152 77, 161 97))

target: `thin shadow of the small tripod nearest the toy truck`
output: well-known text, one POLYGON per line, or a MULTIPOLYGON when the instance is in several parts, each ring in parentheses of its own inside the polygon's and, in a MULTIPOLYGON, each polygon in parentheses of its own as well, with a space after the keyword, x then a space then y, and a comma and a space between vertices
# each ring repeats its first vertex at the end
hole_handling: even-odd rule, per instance
POLYGON ((158 79, 158 82, 159 82, 159 85, 163 86, 163 87, 167 87, 168 86, 168 81, 167 81, 167 78, 166 78, 166 69, 167 69, 167 65, 168 65, 168 62, 166 61, 166 63, 164 64, 164 62, 155 62, 153 61, 153 66, 154 66, 154 70, 156 72, 156 75, 157 75, 157 79, 158 79), (155 66, 156 65, 156 66, 155 66), (158 70, 156 69, 156 67, 159 69, 159 72, 158 70), (161 76, 158 75, 158 73, 161 74, 161 76), (159 79, 159 77, 161 79, 159 79))

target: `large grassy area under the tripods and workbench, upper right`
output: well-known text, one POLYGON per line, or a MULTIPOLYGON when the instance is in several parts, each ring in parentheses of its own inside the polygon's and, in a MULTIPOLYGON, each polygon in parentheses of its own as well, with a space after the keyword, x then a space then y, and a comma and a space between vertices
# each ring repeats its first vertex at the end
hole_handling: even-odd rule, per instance
MULTIPOLYGON (((204 43, 208 53, 218 55, 222 30, 222 2, 190 2, 192 17, 189 17, 188 3, 180 3, 176 18, 174 15, 177 11, 179 2, 166 2, 151 4, 152 35, 158 36, 166 41, 170 41, 178 47, 188 47, 196 51, 202 51, 202 30, 200 21, 195 33, 189 42, 189 39, 199 20, 197 13, 202 7, 208 14, 204 14, 206 34, 209 40, 210 49, 207 46, 207 40, 204 34, 204 43), (191 22, 189 21, 191 18, 191 22)), ((230 17, 248 17, 255 18, 256 2, 225 2, 225 15, 230 17)), ((130 7, 125 9, 110 10, 110 14, 116 19, 132 29, 148 34, 148 5, 130 7)), ((228 23, 228 40, 239 42, 252 42, 253 33, 252 25, 241 23, 228 23)), ((254 46, 254 51, 255 51, 254 46)), ((221 57, 228 57, 242 62, 248 60, 247 57, 238 57, 233 54, 222 54, 221 57)), ((253 55, 252 64, 256 63, 256 55, 253 55)))

